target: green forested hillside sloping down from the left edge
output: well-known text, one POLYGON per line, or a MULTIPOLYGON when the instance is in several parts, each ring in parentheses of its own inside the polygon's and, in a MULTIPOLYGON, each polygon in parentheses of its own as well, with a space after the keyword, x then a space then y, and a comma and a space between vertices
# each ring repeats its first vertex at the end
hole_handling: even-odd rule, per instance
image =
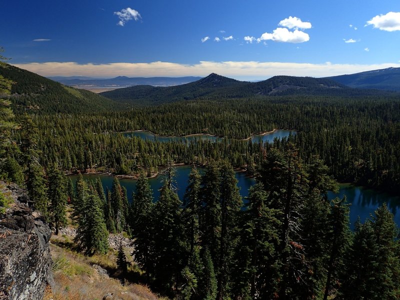
POLYGON ((87 112, 116 107, 113 101, 101 95, 62 85, 7 63, 0 63, 0 75, 14 81, 8 97, 16 113, 27 110, 36 113, 87 112))

